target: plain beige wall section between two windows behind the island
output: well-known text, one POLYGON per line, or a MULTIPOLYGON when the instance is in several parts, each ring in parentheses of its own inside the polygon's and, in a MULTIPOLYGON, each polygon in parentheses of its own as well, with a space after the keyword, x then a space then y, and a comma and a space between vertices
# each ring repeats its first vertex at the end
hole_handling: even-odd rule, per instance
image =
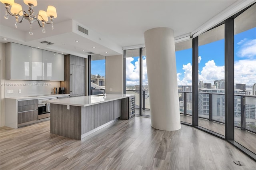
POLYGON ((106 56, 106 93, 123 94, 123 55, 106 56))

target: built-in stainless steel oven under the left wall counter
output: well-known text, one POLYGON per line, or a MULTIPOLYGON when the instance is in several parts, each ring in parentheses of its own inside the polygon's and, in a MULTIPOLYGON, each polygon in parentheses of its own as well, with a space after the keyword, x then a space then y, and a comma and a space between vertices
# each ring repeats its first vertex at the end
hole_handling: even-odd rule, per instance
POLYGON ((38 99, 38 119, 44 119, 47 117, 50 117, 50 104, 45 103, 43 101, 46 100, 52 100, 52 99, 57 99, 57 98, 51 98, 51 99, 38 99))

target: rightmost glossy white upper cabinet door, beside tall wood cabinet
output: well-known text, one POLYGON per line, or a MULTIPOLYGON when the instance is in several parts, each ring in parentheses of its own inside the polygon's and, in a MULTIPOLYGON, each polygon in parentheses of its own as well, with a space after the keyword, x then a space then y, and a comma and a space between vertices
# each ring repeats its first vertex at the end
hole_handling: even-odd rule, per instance
POLYGON ((52 81, 64 81, 64 55, 55 53, 52 58, 52 81))

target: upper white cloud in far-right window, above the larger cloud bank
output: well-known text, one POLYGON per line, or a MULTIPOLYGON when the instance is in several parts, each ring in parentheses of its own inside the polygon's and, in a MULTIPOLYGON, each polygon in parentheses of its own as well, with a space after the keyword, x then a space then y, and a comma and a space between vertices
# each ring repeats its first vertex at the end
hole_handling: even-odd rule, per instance
POLYGON ((239 57, 252 58, 256 56, 256 39, 247 40, 245 38, 244 40, 241 40, 237 44, 241 45, 241 47, 239 47, 239 51, 237 52, 237 55, 239 57))

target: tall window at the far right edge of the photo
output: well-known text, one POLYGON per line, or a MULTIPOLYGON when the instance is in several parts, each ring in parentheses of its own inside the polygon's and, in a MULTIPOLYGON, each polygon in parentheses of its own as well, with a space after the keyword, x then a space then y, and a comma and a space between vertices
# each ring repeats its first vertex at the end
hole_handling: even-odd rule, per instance
POLYGON ((234 18, 234 140, 256 153, 256 4, 234 18))

